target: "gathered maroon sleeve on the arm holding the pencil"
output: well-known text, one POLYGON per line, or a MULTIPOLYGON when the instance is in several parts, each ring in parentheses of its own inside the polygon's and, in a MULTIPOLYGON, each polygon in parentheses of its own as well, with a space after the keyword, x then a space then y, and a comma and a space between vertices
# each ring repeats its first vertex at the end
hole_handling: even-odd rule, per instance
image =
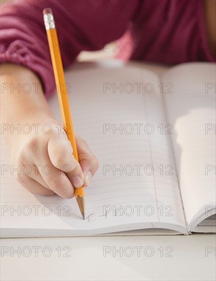
POLYGON ((55 90, 49 44, 42 10, 53 10, 63 66, 69 66, 83 50, 100 50, 122 36, 137 10, 121 7, 122 0, 42 1, 2 3, 0 62, 13 62, 32 69, 41 79, 44 92, 55 90))

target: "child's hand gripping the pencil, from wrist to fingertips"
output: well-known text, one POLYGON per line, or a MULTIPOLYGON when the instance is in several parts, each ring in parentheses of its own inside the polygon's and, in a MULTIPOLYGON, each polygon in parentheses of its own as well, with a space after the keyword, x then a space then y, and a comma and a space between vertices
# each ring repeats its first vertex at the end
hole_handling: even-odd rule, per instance
MULTIPOLYGON (((41 124, 40 121, 35 123, 41 124)), ((98 170, 98 160, 85 140, 76 136, 79 163, 72 154, 73 149, 64 130, 57 126, 55 120, 49 122, 52 130, 50 126, 44 126, 42 130, 45 123, 38 126, 37 133, 32 126, 30 134, 14 135, 12 165, 21 171, 17 172, 17 180, 33 193, 71 198, 74 188, 89 185, 92 175, 98 170)))

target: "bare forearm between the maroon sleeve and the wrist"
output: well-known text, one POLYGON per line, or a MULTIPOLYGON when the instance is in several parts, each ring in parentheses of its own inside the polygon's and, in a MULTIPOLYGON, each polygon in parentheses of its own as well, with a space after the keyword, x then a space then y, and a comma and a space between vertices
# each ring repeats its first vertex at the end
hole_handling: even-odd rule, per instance
MULTIPOLYGON (((53 114, 47 105, 42 85, 35 73, 25 66, 12 63, 1 64, 1 123, 34 124, 38 120, 54 120, 53 114), (26 85, 26 86, 25 86, 26 85)), ((8 145, 11 145, 10 130, 4 135, 8 145)))

